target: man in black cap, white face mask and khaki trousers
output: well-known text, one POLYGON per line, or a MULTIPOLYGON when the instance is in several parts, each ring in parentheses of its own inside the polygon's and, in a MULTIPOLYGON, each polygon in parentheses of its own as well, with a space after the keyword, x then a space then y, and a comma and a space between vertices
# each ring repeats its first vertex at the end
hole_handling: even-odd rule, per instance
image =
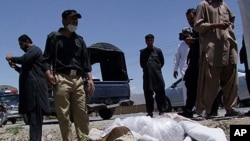
POLYGON ((78 140, 89 133, 82 76, 87 76, 90 93, 94 92, 94 83, 86 44, 75 32, 81 17, 76 10, 65 10, 62 13, 64 27, 48 35, 43 55, 48 83, 53 85, 55 107, 64 141, 73 140, 70 117, 75 123, 78 140))

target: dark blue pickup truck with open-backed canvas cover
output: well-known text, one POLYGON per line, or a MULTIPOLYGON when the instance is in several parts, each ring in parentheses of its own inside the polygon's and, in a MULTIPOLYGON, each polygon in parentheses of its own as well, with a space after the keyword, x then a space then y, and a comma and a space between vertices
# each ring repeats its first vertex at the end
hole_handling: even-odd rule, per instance
MULTIPOLYGON (((113 116, 115 107, 129 106, 129 77, 122 50, 109 43, 96 43, 88 47, 90 63, 99 66, 100 79, 94 79, 95 92, 88 97, 88 112, 98 112, 103 119, 113 116)), ((94 70, 92 72, 95 72, 94 70)))

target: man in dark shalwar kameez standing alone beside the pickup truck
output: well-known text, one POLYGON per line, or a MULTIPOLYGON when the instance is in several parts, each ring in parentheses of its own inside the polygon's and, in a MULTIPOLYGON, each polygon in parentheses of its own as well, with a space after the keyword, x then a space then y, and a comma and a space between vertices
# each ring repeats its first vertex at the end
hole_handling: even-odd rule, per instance
POLYGON ((164 56, 160 48, 154 47, 154 36, 145 36, 147 47, 140 50, 140 65, 143 69, 143 90, 148 116, 153 117, 154 92, 159 115, 166 112, 165 82, 161 69, 164 65, 164 56))

